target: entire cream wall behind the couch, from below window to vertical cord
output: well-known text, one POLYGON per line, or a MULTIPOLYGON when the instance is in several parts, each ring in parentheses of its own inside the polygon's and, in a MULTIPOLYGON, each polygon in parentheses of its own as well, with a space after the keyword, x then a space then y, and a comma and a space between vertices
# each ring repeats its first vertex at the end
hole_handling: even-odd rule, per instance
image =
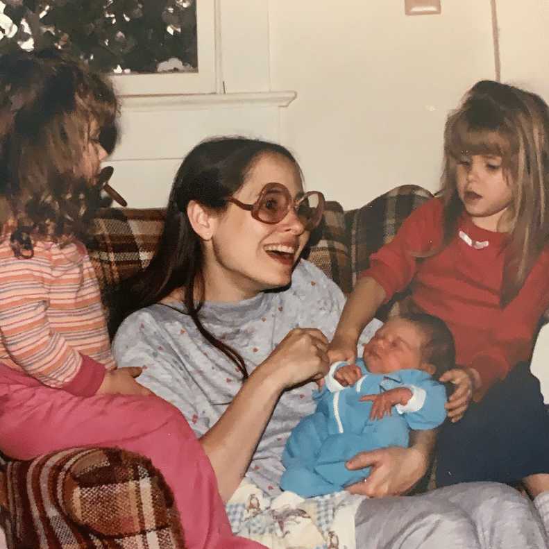
POLYGON ((162 205, 183 155, 221 133, 280 140, 308 187, 346 208, 403 183, 434 190, 446 113, 495 74, 489 0, 412 17, 404 0, 221 0, 221 60, 229 94, 295 90, 296 101, 124 110, 112 183, 130 205, 162 205))

